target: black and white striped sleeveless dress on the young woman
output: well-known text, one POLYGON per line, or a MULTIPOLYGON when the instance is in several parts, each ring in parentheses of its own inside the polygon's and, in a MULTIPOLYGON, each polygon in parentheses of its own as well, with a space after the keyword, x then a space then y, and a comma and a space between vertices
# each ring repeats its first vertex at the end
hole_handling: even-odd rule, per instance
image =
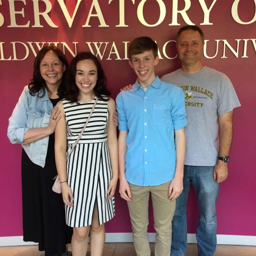
MULTIPOLYGON (((84 128, 95 100, 88 103, 70 103, 65 99, 62 101, 69 151, 84 128)), ((107 124, 107 101, 98 100, 81 139, 67 161, 67 183, 74 196, 73 207, 65 205, 68 226, 91 225, 95 203, 98 205, 100 225, 115 215, 114 197, 107 200, 107 189, 112 178, 107 148, 107 124)))

